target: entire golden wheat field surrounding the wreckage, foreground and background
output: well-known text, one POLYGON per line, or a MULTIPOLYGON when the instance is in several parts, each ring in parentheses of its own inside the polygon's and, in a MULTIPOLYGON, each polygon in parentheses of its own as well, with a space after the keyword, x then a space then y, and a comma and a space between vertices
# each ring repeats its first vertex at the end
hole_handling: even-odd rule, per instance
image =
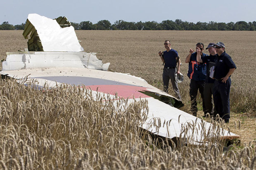
MULTIPOLYGON (((195 49, 197 42, 205 46, 210 42, 223 42, 237 69, 231 76, 230 123, 216 126, 240 135, 241 146, 223 151, 219 141, 211 141, 208 147, 204 143, 201 147, 160 149, 153 141, 139 137, 138 126, 145 118, 138 115, 138 110, 146 110, 145 101, 125 105, 124 111, 118 112, 111 102, 102 104, 100 99, 90 100, 90 92, 83 98, 81 89, 75 87, 41 91, 2 80, 2 169, 256 168, 255 31, 79 30, 76 33, 84 51, 97 52, 103 63, 111 63, 110 71, 142 77, 159 89, 163 86, 163 66, 158 51, 165 50, 164 40, 170 40, 182 62, 185 79, 178 86, 185 104, 181 109, 186 112, 190 108, 188 64, 185 63, 189 48, 195 49)), ((27 42, 22 31, 0 31, 1 59, 6 58, 6 52, 24 48, 27 42)), ((171 89, 169 93, 173 94, 171 89)), ((198 100, 200 107, 200 98, 198 100)))

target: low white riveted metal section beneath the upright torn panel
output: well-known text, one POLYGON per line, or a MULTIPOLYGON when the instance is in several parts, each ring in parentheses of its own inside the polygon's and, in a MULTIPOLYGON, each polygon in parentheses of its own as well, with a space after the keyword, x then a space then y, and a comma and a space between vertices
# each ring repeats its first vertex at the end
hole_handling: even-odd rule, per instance
POLYGON ((108 70, 110 63, 102 63, 96 53, 86 52, 7 52, 3 71, 28 68, 73 67, 108 70))

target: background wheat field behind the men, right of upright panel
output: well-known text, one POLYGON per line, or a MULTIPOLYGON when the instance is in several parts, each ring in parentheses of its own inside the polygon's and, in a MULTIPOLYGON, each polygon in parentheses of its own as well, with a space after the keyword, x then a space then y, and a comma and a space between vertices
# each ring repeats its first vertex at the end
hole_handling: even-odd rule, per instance
MULTIPOLYGON (((249 112, 251 116, 256 116, 255 64, 251 62, 255 57, 254 31, 77 31, 77 36, 85 51, 97 52, 103 62, 111 63, 110 70, 142 77, 159 89, 162 89, 163 66, 157 52, 165 50, 163 42, 169 39, 182 62, 181 72, 185 80, 179 83, 179 89, 185 103, 189 99, 188 64, 185 63, 189 48, 194 49, 197 42, 207 46, 210 42, 222 41, 226 52, 237 65, 231 76, 231 111, 249 112)), ((205 53, 208 54, 208 51, 205 50, 205 53)))

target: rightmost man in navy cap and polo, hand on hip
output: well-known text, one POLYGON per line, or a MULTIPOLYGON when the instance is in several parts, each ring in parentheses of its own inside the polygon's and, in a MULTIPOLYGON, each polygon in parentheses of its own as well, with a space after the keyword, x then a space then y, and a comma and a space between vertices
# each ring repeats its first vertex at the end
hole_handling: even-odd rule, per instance
POLYGON ((225 45, 222 42, 215 44, 215 47, 218 56, 215 60, 213 100, 217 114, 228 123, 230 118, 230 76, 237 67, 231 57, 226 53, 225 45))

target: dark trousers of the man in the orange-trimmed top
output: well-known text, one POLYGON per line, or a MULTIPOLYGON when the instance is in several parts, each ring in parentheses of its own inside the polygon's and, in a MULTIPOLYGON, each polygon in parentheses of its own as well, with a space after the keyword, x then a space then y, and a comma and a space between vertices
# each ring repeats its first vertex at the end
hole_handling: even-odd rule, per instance
POLYGON ((195 81, 193 79, 190 80, 190 88, 189 88, 189 96, 191 101, 190 111, 194 116, 197 115, 196 96, 197 96, 198 89, 202 98, 203 111, 206 114, 205 101, 204 101, 204 86, 205 86, 205 81, 195 81))

